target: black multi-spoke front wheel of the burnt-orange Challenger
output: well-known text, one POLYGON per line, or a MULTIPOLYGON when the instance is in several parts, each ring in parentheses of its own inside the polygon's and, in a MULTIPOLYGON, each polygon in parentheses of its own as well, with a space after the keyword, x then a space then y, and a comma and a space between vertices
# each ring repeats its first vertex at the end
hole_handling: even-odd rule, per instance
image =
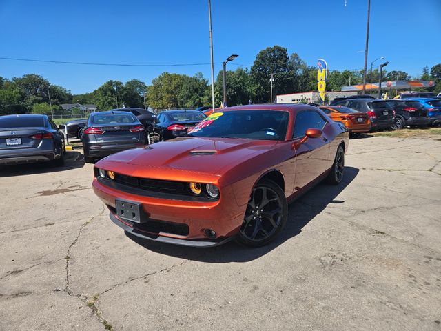
POLYGON ((274 240, 285 226, 287 210, 283 190, 274 181, 259 181, 249 197, 238 241, 259 247, 274 240))

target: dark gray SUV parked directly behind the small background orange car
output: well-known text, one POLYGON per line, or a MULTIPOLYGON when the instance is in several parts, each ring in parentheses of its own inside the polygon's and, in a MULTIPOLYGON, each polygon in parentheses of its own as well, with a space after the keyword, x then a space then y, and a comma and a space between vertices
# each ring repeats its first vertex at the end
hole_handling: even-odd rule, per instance
POLYGON ((348 99, 334 103, 334 106, 345 106, 365 112, 371 118, 371 131, 395 126, 395 111, 381 99, 348 99))

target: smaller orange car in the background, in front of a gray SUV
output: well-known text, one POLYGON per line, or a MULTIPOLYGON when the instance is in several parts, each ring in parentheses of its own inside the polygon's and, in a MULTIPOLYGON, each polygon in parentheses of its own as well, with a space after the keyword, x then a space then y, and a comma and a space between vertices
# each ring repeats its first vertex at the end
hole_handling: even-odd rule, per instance
POLYGON ((368 114, 342 106, 320 106, 333 121, 342 122, 349 133, 357 134, 371 130, 371 119, 368 114))

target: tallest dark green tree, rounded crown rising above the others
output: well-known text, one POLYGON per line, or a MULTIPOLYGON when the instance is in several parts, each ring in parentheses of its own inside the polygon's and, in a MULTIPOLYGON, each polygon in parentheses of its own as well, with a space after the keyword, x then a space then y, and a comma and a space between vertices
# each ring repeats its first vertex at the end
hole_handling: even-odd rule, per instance
POLYGON ((269 81, 274 74, 273 96, 293 90, 293 64, 289 61, 287 49, 280 46, 265 48, 258 52, 251 68, 252 86, 256 102, 265 103, 270 98, 269 81))

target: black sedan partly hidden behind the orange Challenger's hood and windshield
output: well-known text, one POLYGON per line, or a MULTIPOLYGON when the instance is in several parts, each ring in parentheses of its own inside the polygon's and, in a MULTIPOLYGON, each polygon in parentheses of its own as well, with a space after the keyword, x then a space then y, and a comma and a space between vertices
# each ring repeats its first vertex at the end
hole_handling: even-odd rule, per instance
POLYGON ((205 114, 198 110, 168 110, 158 114, 153 128, 154 141, 163 141, 183 137, 187 130, 205 119, 205 114))

